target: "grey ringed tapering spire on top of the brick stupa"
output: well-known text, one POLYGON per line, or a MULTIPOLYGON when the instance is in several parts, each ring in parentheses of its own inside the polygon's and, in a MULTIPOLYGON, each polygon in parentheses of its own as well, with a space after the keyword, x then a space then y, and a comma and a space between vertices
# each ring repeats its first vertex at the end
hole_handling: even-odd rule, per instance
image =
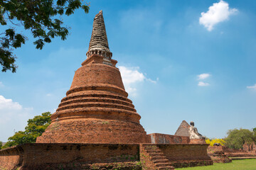
POLYGON ((107 42, 107 33, 102 11, 97 13, 94 18, 89 50, 86 53, 87 57, 90 57, 93 54, 101 55, 107 59, 111 59, 112 57, 112 52, 110 52, 107 42))

